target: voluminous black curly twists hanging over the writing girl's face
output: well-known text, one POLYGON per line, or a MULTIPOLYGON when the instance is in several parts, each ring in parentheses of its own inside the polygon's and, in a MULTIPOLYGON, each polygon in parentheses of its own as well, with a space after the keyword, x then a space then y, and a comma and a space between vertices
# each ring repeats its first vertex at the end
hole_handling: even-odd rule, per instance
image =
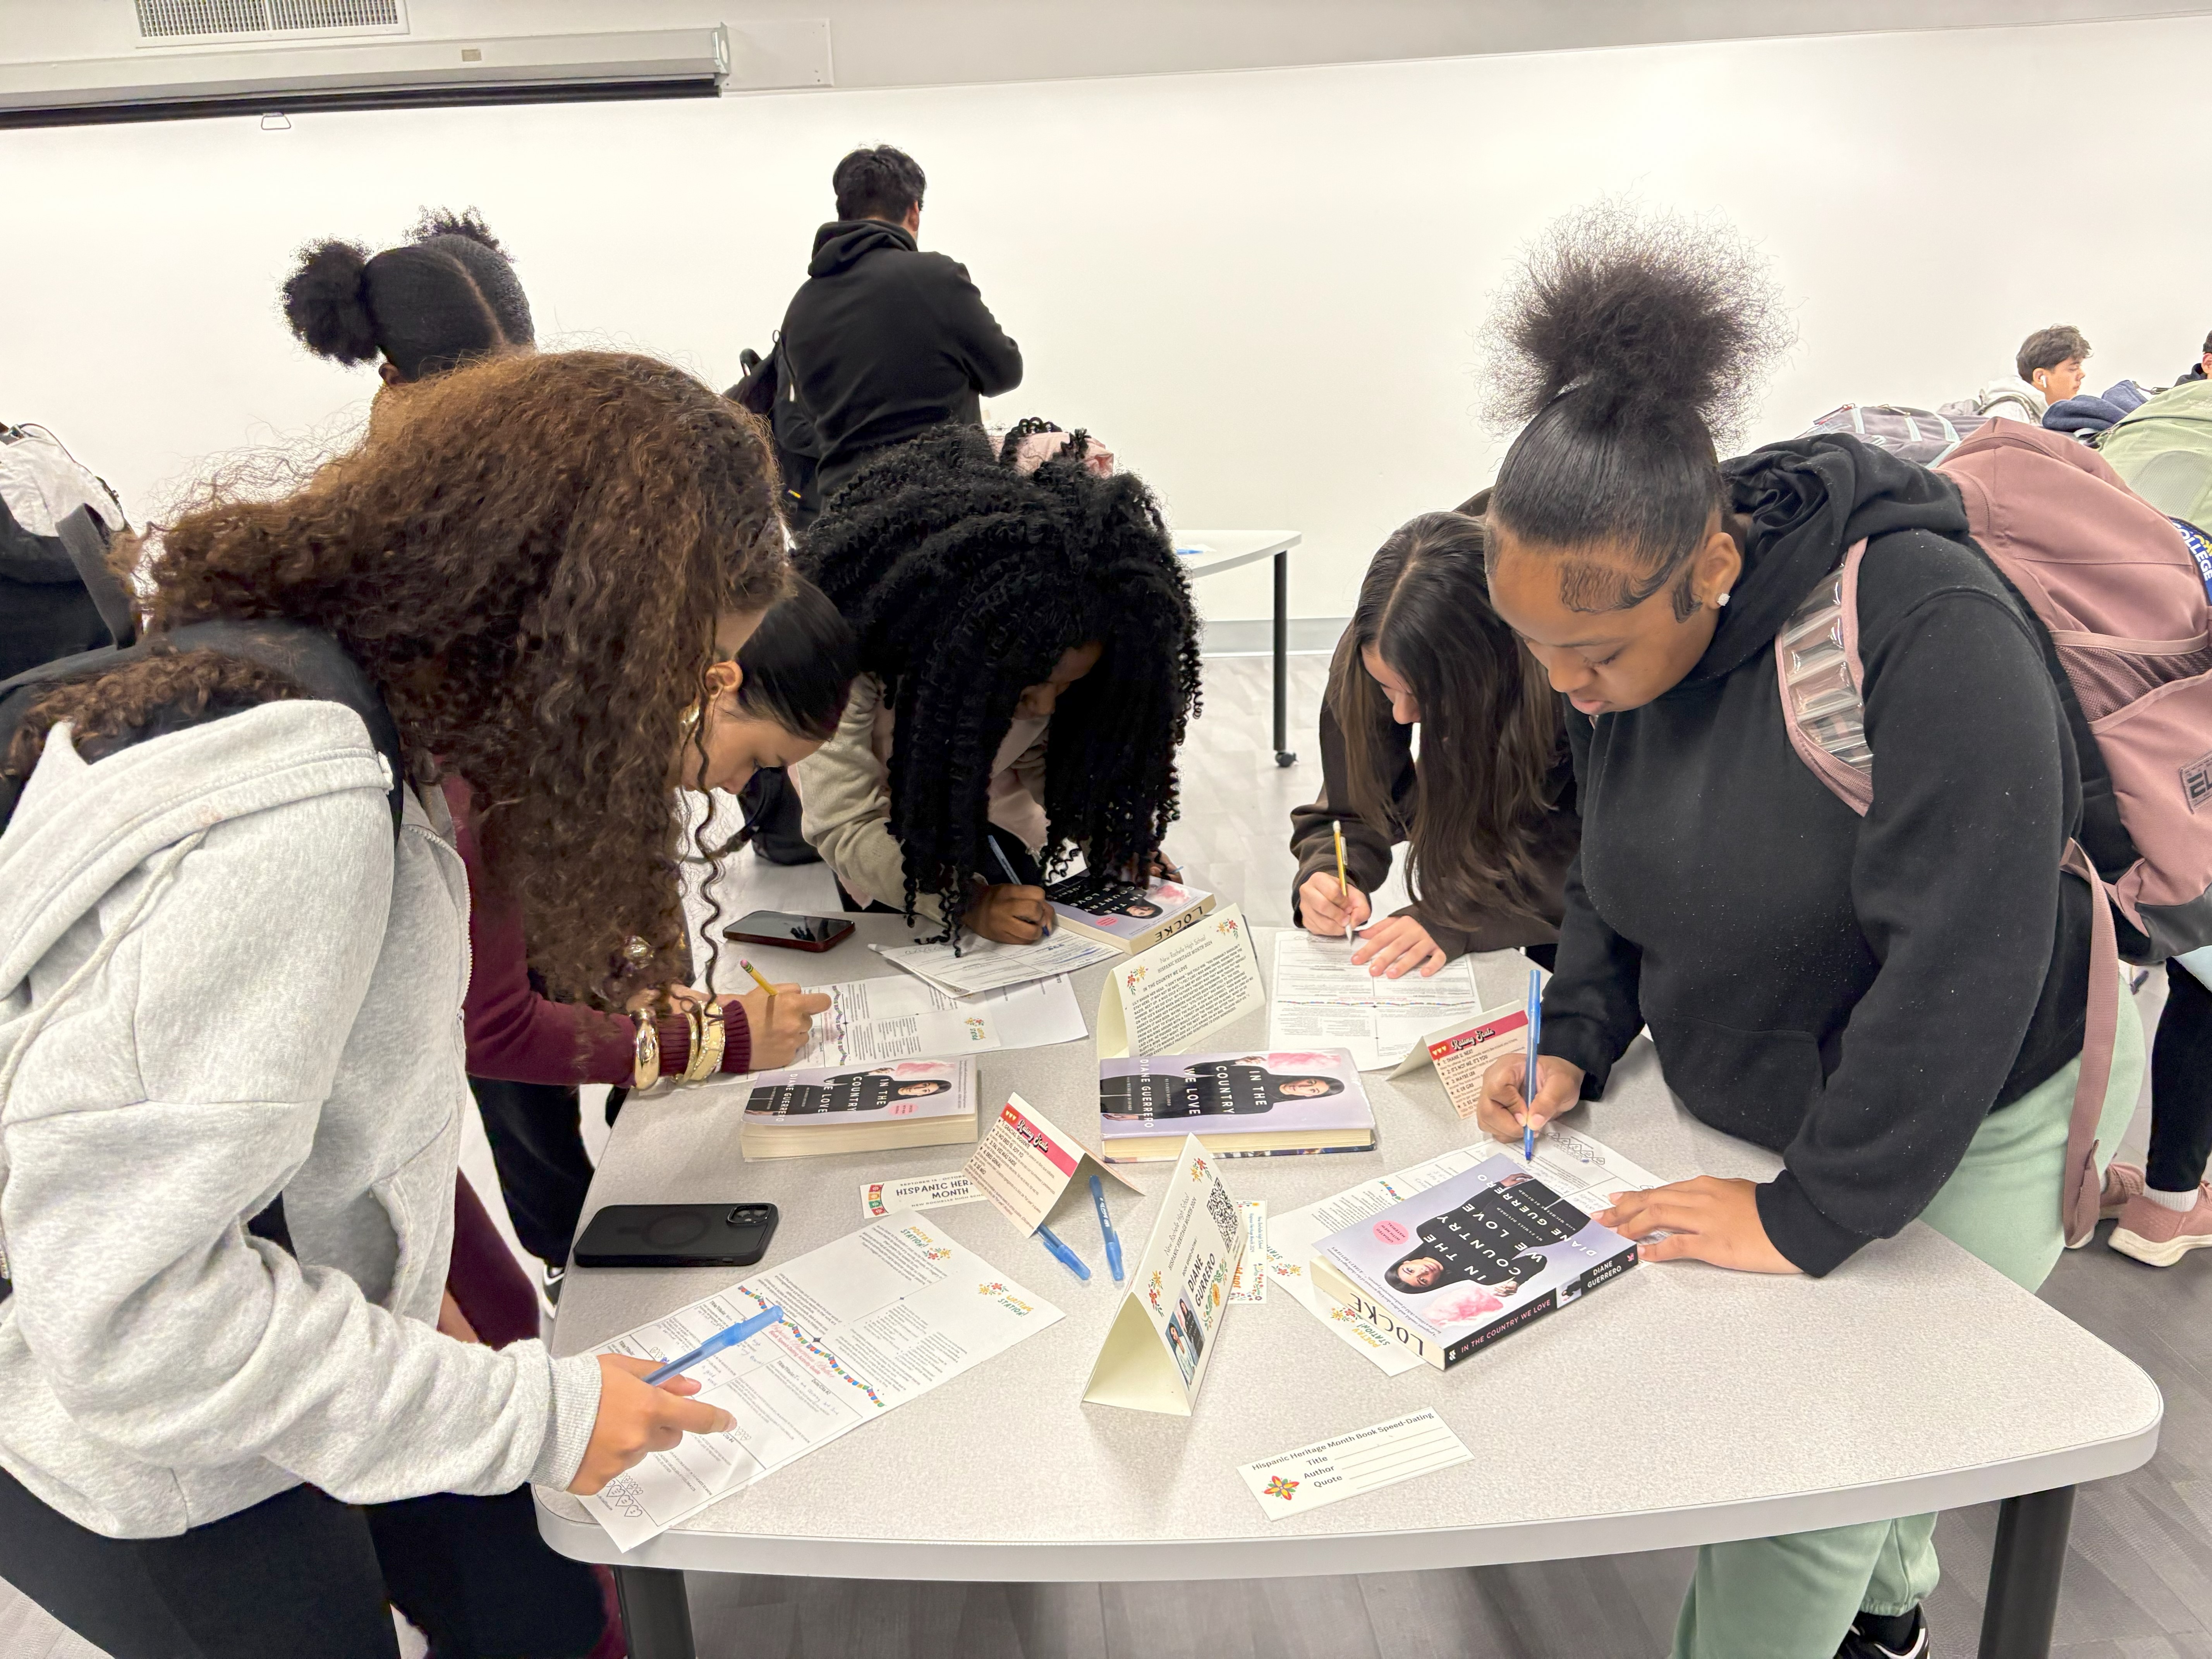
POLYGON ((1177 807, 1199 708, 1197 613, 1152 493, 1079 460, 1002 467, 973 427, 887 449, 807 531, 799 566, 860 637, 896 714, 889 830, 916 894, 958 938, 984 860, 991 765, 1015 703, 1075 646, 1106 650, 1062 692, 1044 763, 1042 863, 1146 863, 1177 807))

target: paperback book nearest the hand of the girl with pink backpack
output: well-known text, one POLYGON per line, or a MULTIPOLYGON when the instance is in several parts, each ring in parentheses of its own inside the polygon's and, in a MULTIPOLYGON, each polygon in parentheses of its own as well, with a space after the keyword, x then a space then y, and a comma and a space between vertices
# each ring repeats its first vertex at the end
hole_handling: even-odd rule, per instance
POLYGON ((1442 1371, 1619 1279, 1637 1248, 1504 1152, 1329 1234, 1310 1265, 1321 1296, 1442 1371))

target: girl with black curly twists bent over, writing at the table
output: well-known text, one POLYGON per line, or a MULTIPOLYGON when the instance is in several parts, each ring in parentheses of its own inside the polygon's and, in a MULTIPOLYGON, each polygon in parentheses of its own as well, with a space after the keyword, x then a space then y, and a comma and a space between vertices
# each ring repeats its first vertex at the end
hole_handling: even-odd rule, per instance
POLYGON ((1051 927, 1042 880, 1073 854, 1159 858, 1199 624, 1152 493, 1095 476, 1084 447, 1022 473, 945 427, 856 473, 801 544, 860 679, 792 781, 805 838, 863 907, 1022 945, 1051 927))

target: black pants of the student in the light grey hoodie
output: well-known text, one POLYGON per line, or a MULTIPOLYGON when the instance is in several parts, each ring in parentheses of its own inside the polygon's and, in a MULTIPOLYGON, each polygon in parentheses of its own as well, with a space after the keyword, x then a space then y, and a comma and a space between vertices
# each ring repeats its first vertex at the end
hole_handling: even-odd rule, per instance
POLYGON ((599 1582, 538 1537, 531 1491, 354 1509, 294 1486, 177 1537, 102 1537, 0 1471, 0 1577, 113 1659, 571 1659, 599 1582))

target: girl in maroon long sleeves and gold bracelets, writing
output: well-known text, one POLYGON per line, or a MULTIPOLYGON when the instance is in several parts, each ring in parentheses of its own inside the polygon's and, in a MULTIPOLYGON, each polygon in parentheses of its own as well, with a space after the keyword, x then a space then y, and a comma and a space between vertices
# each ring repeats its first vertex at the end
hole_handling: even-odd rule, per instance
MULTIPOLYGON (((734 664, 708 670, 706 723, 688 719, 686 790, 741 790, 754 768, 790 765, 836 732, 852 690, 852 628, 821 591, 799 573, 783 597, 737 650, 734 664)), ((460 856, 469 867, 469 1088, 484 1115, 484 1135, 500 1170, 500 1192, 522 1248, 542 1259, 549 1279, 568 1261, 591 1188, 591 1159, 577 1128, 577 1084, 637 1084, 639 1053, 650 1048, 648 1077, 681 1077, 692 1064, 690 1029, 703 995, 681 984, 655 987, 633 1002, 628 1018, 544 995, 529 969, 522 914, 487 880, 476 838, 476 812, 465 779, 445 779, 460 856), (655 1042, 644 1044, 639 1011, 653 1013, 655 1042)), ((708 814, 699 814, 695 856, 712 869, 734 852, 706 847, 708 814)), ((743 845, 743 836, 739 838, 743 845)), ((712 896, 712 889, 710 889, 712 896)), ((721 949, 719 907, 710 905, 706 942, 721 949)), ((774 1024, 768 993, 714 998, 723 1009, 719 1073, 787 1066, 807 1040, 814 1015, 830 998, 779 987, 774 1024)), ((608 1099, 608 1121, 619 1093, 608 1099)))

